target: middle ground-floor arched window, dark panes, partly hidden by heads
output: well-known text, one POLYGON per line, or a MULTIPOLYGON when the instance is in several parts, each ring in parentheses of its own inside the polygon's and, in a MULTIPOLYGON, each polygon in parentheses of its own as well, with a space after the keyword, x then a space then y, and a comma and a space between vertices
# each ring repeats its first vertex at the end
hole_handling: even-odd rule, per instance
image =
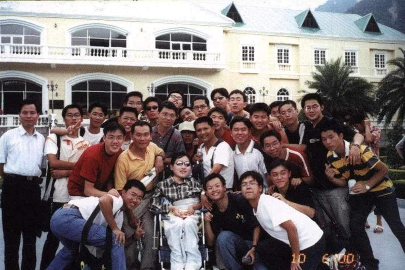
POLYGON ((72 103, 89 109, 92 102, 104 103, 115 114, 123 106, 127 87, 110 80, 85 80, 72 85, 72 103))

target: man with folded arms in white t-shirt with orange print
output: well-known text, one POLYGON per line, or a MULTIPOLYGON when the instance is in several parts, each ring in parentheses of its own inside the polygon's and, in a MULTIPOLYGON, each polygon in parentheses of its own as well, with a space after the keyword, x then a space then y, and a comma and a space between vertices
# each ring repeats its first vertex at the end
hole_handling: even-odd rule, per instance
MULTIPOLYGON (((78 105, 71 104, 62 110, 63 121, 66 127, 80 125, 83 120, 83 110, 78 105)), ((78 130, 60 137, 60 153, 57 157, 57 135, 50 134, 45 142, 44 155, 48 158, 51 166, 51 178, 47 183, 44 200, 48 200, 52 190, 52 213, 70 200, 67 190, 68 177, 80 155, 89 147, 89 143, 79 136, 78 130), (55 181, 54 181, 55 179, 55 181), (53 188, 52 188, 53 184, 53 188)), ((41 266, 46 269, 55 257, 59 247, 59 240, 49 232, 42 252, 41 266)))

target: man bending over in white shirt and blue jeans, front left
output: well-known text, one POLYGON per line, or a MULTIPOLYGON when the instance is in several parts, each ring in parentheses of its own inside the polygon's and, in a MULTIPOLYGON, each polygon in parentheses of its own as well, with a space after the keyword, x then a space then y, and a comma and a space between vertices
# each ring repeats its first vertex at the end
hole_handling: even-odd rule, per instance
MULTIPOLYGON (((145 186, 140 181, 130 180, 125 184, 120 197, 106 194, 100 198, 88 197, 71 200, 68 204, 64 204, 51 218, 51 230, 59 238, 63 248, 47 269, 65 269, 77 258, 78 245, 82 241, 84 226, 97 205, 100 206, 100 212, 90 226, 86 244, 105 247, 106 227, 109 226, 112 231, 111 268, 114 270, 126 269, 125 234, 121 231, 123 211, 138 207, 145 193, 145 186)), ((137 230, 132 238, 140 239, 143 234, 138 222, 137 230)))

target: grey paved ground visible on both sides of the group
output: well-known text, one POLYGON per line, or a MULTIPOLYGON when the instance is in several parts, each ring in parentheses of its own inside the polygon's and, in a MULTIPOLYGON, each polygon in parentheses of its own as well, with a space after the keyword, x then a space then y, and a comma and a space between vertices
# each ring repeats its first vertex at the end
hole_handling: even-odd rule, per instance
MULTIPOLYGON (((402 223, 405 224, 405 200, 400 200, 399 214, 401 216, 402 223)), ((1 223, 1 209, 0 209, 0 224, 1 223)), ((404 269, 405 255, 401 249, 401 246, 391 230, 388 228, 387 223, 383 219, 384 233, 374 234, 373 228, 376 224, 376 216, 370 214, 369 223, 371 229, 368 229, 368 235, 373 247, 374 255, 380 260, 380 270, 392 270, 392 269, 404 269)), ((36 241, 36 269, 39 269, 39 263, 41 263, 42 249, 46 240, 46 234, 43 233, 40 239, 36 241)), ((22 241, 22 240, 21 240, 22 241)), ((60 248, 60 247, 59 247, 60 248)), ((21 246, 20 246, 20 260, 21 260, 21 246)), ((21 265, 21 263, 20 263, 21 265)), ((0 270, 4 268, 4 238, 3 230, 0 230, 0 270)))

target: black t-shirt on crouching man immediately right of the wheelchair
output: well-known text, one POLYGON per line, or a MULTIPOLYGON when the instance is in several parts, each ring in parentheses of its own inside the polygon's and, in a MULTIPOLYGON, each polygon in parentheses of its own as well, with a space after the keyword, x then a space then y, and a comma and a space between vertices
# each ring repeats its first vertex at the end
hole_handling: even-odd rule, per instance
POLYGON ((244 240, 253 240, 253 230, 259 226, 253 208, 241 194, 227 194, 229 202, 225 212, 220 212, 214 204, 211 213, 213 218, 211 228, 215 234, 230 231, 244 240))

